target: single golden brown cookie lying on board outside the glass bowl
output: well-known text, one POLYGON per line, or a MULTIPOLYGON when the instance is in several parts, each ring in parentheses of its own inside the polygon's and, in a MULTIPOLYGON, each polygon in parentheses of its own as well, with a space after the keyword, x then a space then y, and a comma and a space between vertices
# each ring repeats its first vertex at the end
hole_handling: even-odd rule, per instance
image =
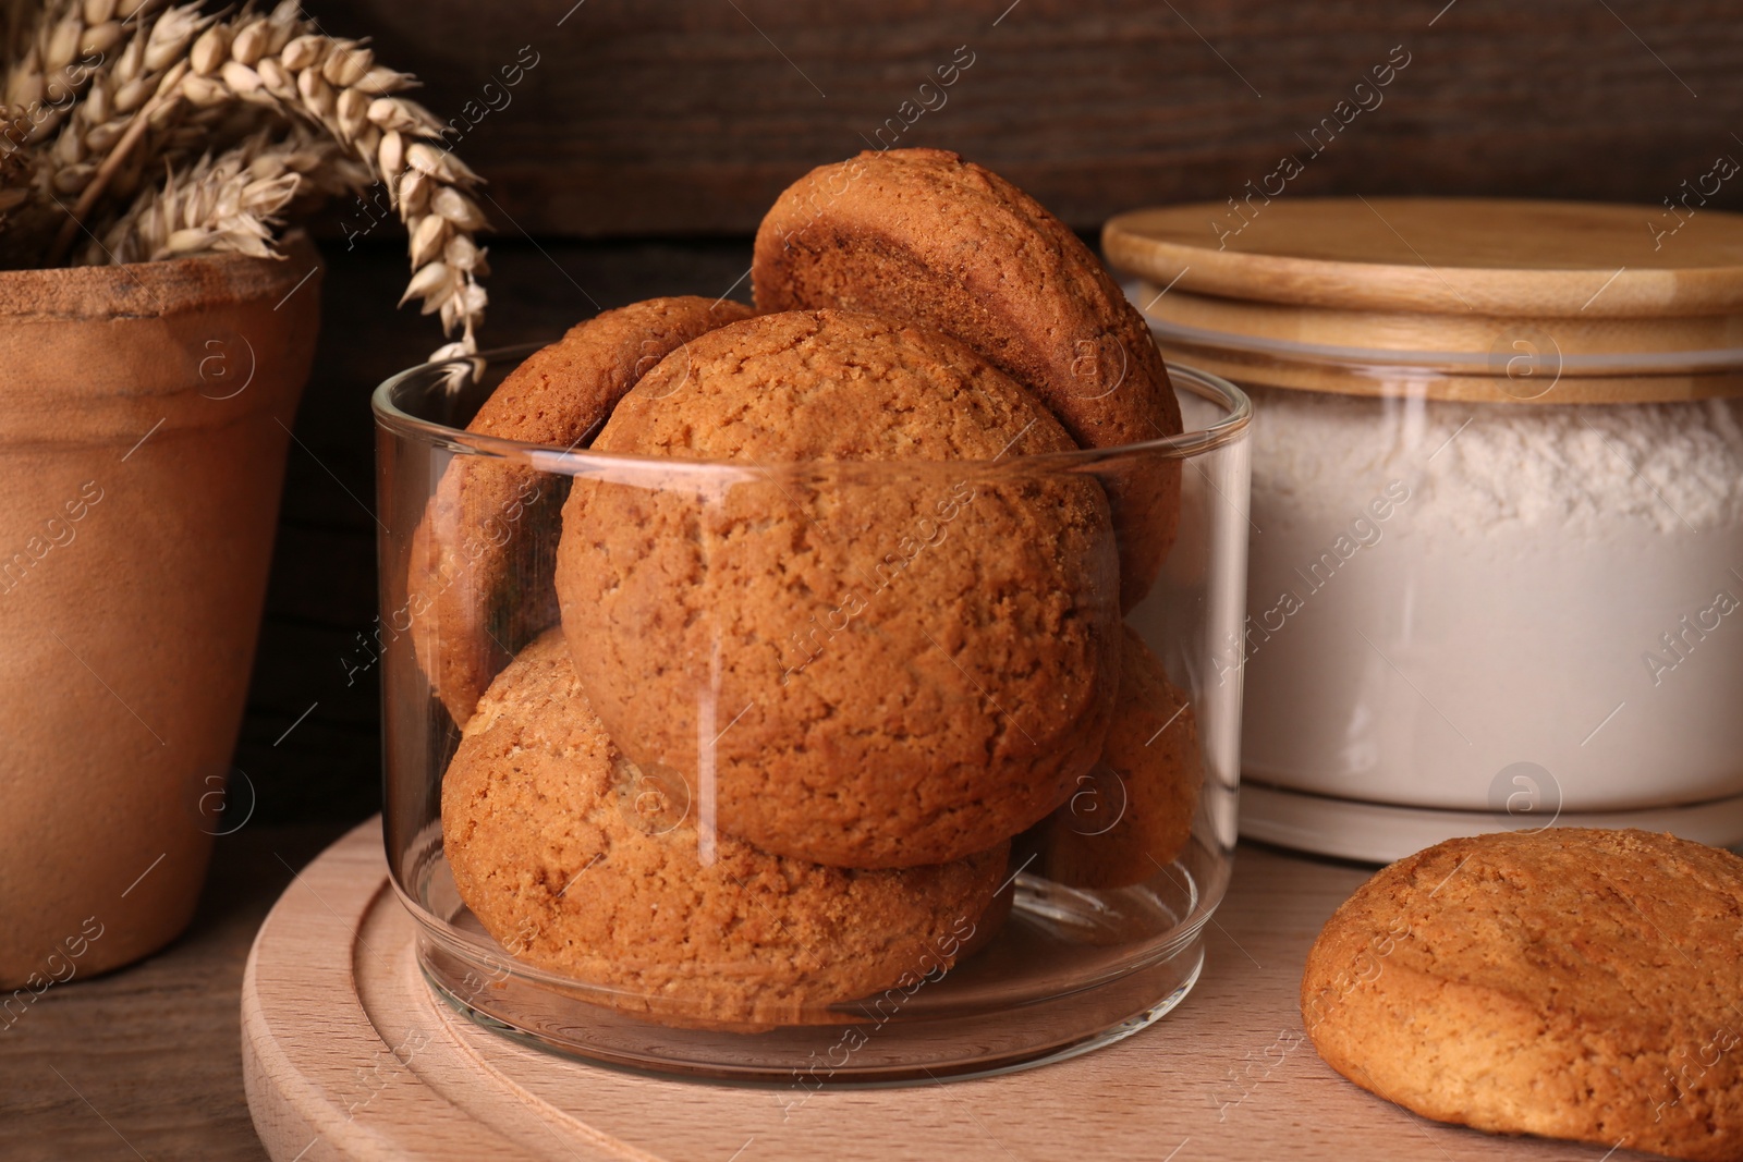
POLYGON ((1307 956, 1302 1017, 1358 1085, 1441 1122, 1743 1157, 1743 859, 1647 831, 1448 840, 1307 956))

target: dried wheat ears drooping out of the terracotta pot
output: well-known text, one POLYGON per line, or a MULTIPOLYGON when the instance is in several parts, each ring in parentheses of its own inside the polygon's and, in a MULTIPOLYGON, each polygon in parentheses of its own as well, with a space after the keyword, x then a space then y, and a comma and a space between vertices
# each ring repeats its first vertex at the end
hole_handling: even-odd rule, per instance
POLYGON ((478 174, 415 82, 295 0, 0 0, 0 265, 275 256, 286 209, 380 183, 410 233, 420 300, 471 354, 488 274, 478 174), (75 244, 77 251, 75 251, 75 244))

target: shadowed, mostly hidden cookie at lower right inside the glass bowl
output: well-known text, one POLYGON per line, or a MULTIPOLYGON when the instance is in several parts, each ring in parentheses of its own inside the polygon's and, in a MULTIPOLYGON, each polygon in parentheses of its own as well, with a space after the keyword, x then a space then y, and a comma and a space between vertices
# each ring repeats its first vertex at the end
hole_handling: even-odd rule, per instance
POLYGON ((1185 693, 1128 625, 1102 761, 1048 821, 1041 875, 1079 888, 1143 883, 1187 845, 1204 768, 1185 693))

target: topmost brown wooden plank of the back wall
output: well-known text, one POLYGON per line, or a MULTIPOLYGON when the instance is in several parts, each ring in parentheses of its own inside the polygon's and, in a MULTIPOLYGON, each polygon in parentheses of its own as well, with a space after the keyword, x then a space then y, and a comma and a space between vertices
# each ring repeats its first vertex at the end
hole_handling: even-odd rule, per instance
MULTIPOLYGON (((1720 153, 1743 159, 1736 0, 309 7, 429 80, 505 233, 744 233, 800 172, 898 131, 999 169, 1079 228, 1239 193, 1285 153, 1306 162, 1292 193, 1645 204, 1720 153), (1314 155, 1304 138, 1326 118, 1339 132, 1314 155)), ((1743 181, 1713 204, 1743 206, 1743 181)))

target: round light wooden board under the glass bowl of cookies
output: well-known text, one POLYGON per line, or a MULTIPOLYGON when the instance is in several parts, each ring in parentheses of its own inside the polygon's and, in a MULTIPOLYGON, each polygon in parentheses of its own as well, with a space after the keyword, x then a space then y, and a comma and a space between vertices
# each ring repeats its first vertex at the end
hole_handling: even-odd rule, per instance
POLYGON ((1424 1122, 1319 1061, 1300 967, 1365 878, 1243 848, 1204 976, 1159 1024, 1006 1077, 810 1092, 603 1070, 458 1016, 418 972, 376 819, 310 864, 260 929, 242 984, 248 1103, 277 1162, 1631 1157, 1424 1122))

